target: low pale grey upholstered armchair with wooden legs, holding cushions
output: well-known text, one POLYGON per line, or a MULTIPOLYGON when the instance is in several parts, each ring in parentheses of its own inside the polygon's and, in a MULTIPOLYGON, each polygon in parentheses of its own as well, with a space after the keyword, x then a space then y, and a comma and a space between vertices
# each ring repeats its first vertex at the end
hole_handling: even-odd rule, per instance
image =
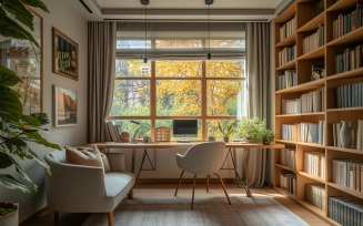
POLYGON ((103 167, 68 164, 64 151, 54 151, 46 156, 51 175, 46 176, 47 204, 63 213, 108 213, 113 225, 113 209, 127 197, 134 185, 134 175, 122 172, 122 154, 108 154, 111 172, 103 167), (110 157, 112 155, 112 157, 110 157))

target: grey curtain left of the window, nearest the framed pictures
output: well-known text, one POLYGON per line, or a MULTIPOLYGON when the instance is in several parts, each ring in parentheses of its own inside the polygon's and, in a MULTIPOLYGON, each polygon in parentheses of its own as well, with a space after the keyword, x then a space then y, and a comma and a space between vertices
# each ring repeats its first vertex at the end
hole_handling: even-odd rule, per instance
POLYGON ((105 119, 113 96, 115 23, 88 23, 88 142, 109 140, 105 119))

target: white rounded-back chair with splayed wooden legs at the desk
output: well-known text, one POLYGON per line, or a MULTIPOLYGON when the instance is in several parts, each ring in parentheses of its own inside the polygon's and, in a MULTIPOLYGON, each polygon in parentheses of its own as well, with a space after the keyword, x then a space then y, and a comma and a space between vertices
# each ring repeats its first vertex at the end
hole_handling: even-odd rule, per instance
MULTIPOLYGON (((224 191, 225 197, 231 205, 230 197, 225 191, 223 181, 221 176, 216 173, 222 164, 223 157, 225 154, 225 143, 224 142, 211 142, 211 143, 201 143, 190 147, 184 155, 177 154, 178 166, 182 170, 177 186, 174 196, 178 194, 178 189, 181 185, 184 172, 194 174, 193 178, 193 193, 192 193, 192 206, 194 207, 194 189, 195 189, 195 177, 198 174, 206 174, 208 183, 209 176, 211 174, 216 175, 220 178, 222 188, 224 191)), ((208 187, 209 185, 206 185, 208 187)))

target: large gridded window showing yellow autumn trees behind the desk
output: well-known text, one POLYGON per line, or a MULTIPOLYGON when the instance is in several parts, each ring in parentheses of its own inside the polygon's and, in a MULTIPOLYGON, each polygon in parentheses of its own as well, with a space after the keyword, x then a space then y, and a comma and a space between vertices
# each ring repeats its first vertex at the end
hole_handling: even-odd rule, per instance
POLYGON ((195 140, 222 137, 218 122, 240 120, 246 112, 245 60, 241 51, 244 53, 244 39, 118 38, 110 120, 131 135, 139 127, 131 121, 140 122, 138 135, 142 137, 152 136, 155 126, 171 127, 172 120, 195 119, 195 140), (199 55, 208 48, 218 56, 201 60, 199 55), (149 62, 143 63, 141 56, 147 51, 149 62))

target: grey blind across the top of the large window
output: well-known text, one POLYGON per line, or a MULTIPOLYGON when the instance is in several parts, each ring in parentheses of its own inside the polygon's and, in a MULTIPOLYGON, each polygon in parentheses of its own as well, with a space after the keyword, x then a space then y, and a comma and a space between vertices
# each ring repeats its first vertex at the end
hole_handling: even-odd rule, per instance
POLYGON ((151 60, 239 59, 245 55, 245 23, 119 22, 117 58, 151 60))

